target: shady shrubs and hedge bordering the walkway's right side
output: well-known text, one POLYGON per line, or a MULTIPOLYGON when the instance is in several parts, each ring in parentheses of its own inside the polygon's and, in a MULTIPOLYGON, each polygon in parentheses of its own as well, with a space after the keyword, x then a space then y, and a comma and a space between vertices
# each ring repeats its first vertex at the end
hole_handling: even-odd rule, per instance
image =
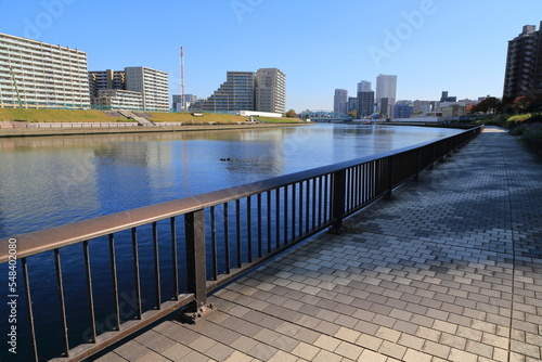
POLYGON ((480 122, 509 129, 535 155, 542 158, 542 113, 522 115, 493 115, 480 122))

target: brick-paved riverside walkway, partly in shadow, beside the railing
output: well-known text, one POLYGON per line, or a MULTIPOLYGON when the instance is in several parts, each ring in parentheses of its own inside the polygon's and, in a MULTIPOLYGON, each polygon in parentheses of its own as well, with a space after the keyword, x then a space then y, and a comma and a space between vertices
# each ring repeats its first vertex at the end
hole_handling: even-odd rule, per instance
POLYGON ((487 128, 420 182, 101 361, 540 361, 542 164, 487 128))

